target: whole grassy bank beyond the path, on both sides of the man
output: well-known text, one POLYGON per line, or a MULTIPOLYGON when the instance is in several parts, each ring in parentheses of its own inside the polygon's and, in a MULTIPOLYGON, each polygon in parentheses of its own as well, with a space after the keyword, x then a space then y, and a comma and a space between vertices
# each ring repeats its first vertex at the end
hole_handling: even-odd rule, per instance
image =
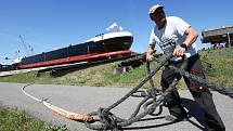
MULTIPOLYGON (((231 82, 233 79, 233 48, 202 51, 200 55, 204 62, 208 62, 212 65, 212 68, 209 68, 208 65, 204 63, 207 79, 213 83, 233 88, 233 82, 231 82)), ((41 77, 36 77, 36 73, 28 73, 1 77, 0 81, 90 87, 135 87, 146 75, 145 65, 131 69, 128 73, 114 74, 114 68, 117 67, 118 64, 119 62, 103 64, 76 70, 56 78, 50 77, 49 73, 43 74, 41 77)), ((153 67, 155 67, 155 63, 152 64, 153 67)), ((153 77, 153 80, 155 84, 159 87, 160 71, 153 77)), ((146 83, 144 87, 147 88, 150 84, 146 83)), ((183 80, 178 84, 178 88, 185 88, 183 80)))

